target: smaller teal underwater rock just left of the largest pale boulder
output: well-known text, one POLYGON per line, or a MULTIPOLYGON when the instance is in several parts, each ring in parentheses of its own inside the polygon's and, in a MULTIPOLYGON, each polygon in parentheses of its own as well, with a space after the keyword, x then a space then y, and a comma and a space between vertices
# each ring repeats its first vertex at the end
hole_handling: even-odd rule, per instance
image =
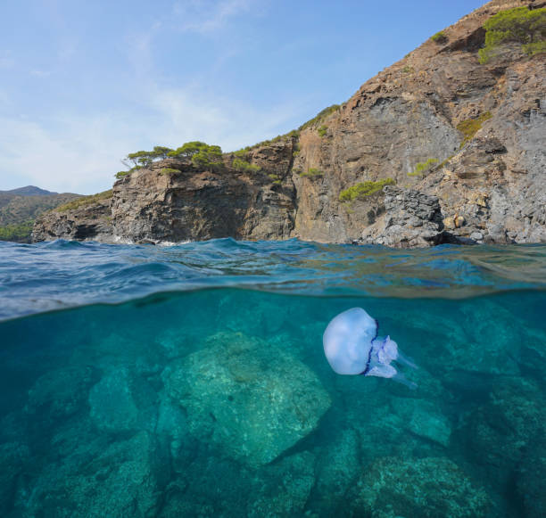
POLYGON ((104 432, 153 430, 154 400, 155 393, 144 379, 133 379, 126 368, 112 369, 89 392, 90 415, 104 432))

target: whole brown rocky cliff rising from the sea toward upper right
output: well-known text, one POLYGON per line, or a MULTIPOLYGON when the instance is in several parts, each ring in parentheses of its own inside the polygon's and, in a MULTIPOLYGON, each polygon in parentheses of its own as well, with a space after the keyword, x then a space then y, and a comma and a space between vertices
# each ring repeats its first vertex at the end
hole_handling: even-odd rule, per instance
MULTIPOLYGON (((505 44, 490 62, 478 60, 484 22, 493 14, 544 4, 493 0, 468 14, 299 136, 252 148, 247 160, 259 172, 236 171, 233 155, 213 173, 181 160, 157 162, 116 182, 111 230, 67 234, 62 214, 53 212, 38 222, 44 232, 35 239, 104 240, 111 232, 109 239, 135 242, 224 236, 392 246, 546 241, 546 54, 528 56, 521 45, 505 44), (343 197, 351 187, 385 178, 399 189, 391 188, 387 203, 383 191, 343 197), (418 221, 415 203, 434 205, 434 197, 434 237, 419 239, 433 220, 418 221), (393 215, 403 222, 395 233, 393 215)), ((80 218, 78 212, 70 217, 76 224, 80 218)))

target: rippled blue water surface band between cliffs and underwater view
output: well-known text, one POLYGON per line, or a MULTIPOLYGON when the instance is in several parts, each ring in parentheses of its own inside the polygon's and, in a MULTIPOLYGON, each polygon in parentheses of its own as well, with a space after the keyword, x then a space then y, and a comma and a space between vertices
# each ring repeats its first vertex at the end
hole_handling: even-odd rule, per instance
POLYGON ((158 292, 461 299, 546 287, 546 245, 393 250, 231 238, 161 246, 0 243, 0 319, 158 292))

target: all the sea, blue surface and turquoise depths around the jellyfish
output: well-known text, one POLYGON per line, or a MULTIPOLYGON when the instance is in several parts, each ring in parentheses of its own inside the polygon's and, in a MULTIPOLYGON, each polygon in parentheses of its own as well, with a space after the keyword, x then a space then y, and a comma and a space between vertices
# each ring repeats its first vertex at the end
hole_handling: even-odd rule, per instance
POLYGON ((0 344, 6 518, 546 516, 545 245, 0 243, 0 344))

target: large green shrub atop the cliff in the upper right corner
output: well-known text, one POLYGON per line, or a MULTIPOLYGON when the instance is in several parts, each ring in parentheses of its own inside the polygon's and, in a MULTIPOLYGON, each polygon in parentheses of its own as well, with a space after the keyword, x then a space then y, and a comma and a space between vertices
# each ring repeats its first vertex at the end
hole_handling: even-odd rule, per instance
POLYGON ((544 46, 539 44, 546 39, 546 7, 515 7, 497 12, 484 23, 484 29, 485 45, 478 53, 480 63, 489 62, 503 43, 519 43, 526 53, 544 52, 544 46))

